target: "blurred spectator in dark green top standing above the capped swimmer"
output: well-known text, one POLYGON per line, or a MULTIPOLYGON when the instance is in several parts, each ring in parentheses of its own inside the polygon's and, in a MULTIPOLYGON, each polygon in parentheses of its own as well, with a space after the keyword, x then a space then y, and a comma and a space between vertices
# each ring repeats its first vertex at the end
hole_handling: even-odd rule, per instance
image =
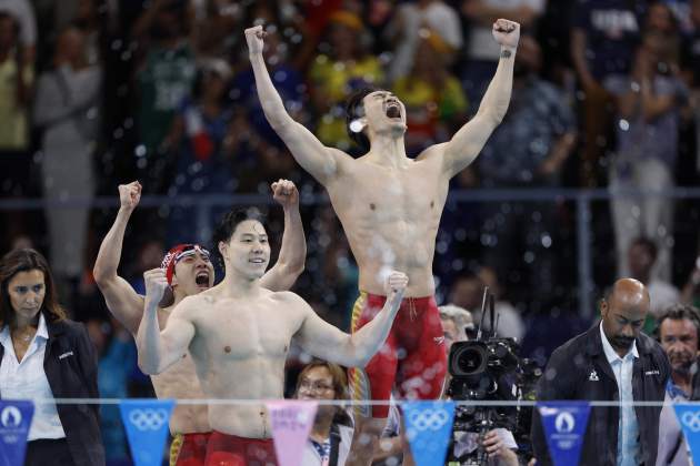
POLYGON ((168 154, 176 142, 167 136, 197 73, 187 4, 184 0, 154 0, 133 28, 139 47, 146 51, 137 73, 141 145, 136 149, 146 193, 162 193, 169 185, 174 164, 168 154))

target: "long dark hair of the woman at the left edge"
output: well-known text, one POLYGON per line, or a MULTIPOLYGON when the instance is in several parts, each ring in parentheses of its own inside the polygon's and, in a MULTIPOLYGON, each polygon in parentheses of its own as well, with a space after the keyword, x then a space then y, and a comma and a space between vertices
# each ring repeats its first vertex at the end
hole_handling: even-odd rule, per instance
POLYGON ((14 316, 8 284, 18 273, 33 270, 43 272, 46 293, 41 304, 41 312, 44 318, 49 322, 58 322, 66 318, 66 312, 58 304, 56 284, 46 257, 36 250, 23 249, 10 251, 0 260, 0 326, 12 322, 14 316))

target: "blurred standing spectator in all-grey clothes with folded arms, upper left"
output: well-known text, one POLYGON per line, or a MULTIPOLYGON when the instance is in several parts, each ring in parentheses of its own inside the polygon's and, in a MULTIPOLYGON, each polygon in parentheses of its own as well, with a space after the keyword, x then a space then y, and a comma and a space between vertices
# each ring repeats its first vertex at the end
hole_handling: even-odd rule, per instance
MULTIPOLYGON (((39 79, 34 123, 41 143, 47 199, 90 199, 94 193, 92 158, 99 128, 101 69, 88 65, 84 38, 76 28, 58 38, 53 68, 39 79)), ((46 211, 52 269, 57 281, 73 286, 86 270, 88 221, 84 206, 46 211)))

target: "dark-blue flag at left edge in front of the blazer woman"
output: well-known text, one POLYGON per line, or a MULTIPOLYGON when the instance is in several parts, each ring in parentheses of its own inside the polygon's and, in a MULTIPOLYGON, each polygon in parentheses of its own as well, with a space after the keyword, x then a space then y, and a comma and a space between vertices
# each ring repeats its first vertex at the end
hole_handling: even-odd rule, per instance
POLYGON ((32 402, 0 399, 0 466, 22 466, 34 415, 32 402))

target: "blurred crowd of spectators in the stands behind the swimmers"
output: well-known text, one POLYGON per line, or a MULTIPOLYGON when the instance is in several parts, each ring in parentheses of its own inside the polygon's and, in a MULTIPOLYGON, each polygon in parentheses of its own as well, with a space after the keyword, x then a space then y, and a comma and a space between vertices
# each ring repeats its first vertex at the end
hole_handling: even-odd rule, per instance
MULTIPOLYGON (((510 108, 451 188, 608 188, 614 199, 590 219, 594 282, 642 280, 654 315, 697 303, 697 200, 624 193, 698 184, 698 0, 0 0, 0 199, 89 201, 132 180, 144 194, 268 194, 280 178, 302 200, 322 194, 264 119, 243 30, 264 26, 276 88, 324 144, 359 155, 343 101, 371 84, 406 104, 416 156, 476 113, 498 63, 497 18, 522 26, 510 108)), ((101 354, 103 396, 149 394, 90 274, 113 210, 86 205, 0 210, 0 250, 48 253, 101 354)), ((439 298, 478 318, 488 285, 500 332, 544 361, 589 324, 576 311, 574 210, 556 197, 450 201, 439 298)), ((201 236, 197 215, 187 203, 140 210, 121 262, 137 290, 170 245, 201 236)), ((310 254, 296 291, 347 328, 358 272, 342 229, 322 203, 302 216, 310 254)))

